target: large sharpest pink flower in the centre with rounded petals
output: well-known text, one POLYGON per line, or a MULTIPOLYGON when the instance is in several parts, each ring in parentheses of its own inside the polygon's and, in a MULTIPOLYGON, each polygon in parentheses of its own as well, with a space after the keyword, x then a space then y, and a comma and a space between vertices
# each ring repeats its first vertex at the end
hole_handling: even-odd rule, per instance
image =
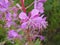
POLYGON ((47 22, 46 22, 46 17, 43 18, 43 16, 39 17, 39 10, 37 9, 33 9, 30 14, 21 12, 19 14, 19 18, 21 19, 22 25, 21 28, 23 30, 26 29, 42 29, 42 28, 46 28, 47 26, 47 22))

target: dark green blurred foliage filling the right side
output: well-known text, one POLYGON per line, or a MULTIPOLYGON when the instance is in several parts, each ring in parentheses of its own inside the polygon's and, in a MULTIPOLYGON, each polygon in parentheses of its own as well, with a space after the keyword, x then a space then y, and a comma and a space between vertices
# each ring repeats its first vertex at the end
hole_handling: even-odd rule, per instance
POLYGON ((47 0, 44 7, 49 23, 46 30, 48 41, 44 45, 60 45, 60 0, 47 0))

